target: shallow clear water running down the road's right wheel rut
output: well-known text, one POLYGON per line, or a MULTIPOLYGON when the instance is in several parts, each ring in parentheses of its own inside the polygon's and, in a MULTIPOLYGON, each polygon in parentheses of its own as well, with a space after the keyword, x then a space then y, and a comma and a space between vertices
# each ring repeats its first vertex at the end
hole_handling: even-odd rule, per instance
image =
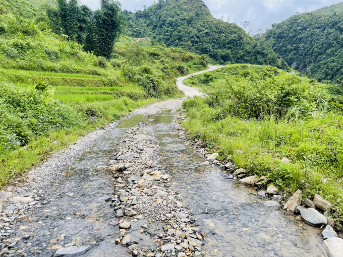
POLYGON ((196 225, 208 234, 204 256, 323 256, 319 228, 281 210, 268 209, 251 187, 224 179, 185 146, 170 123, 156 126, 162 167, 173 175, 173 190, 183 196, 196 225))

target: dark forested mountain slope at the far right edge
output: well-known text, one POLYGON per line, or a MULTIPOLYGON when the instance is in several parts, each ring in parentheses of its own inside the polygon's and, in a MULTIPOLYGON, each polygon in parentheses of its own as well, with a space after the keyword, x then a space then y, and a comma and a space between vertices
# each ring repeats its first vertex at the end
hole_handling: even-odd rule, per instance
POLYGON ((294 15, 261 37, 288 65, 321 82, 343 79, 343 3, 294 15))

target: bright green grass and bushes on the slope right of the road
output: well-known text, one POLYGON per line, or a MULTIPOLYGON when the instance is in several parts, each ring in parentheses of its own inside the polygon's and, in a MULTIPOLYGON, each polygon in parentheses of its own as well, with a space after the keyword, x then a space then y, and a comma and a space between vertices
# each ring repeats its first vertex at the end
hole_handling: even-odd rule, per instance
POLYGON ((207 94, 183 103, 190 138, 279 189, 320 194, 335 205, 336 217, 343 213, 342 105, 328 104, 335 96, 327 85, 252 65, 226 66, 185 83, 207 94))

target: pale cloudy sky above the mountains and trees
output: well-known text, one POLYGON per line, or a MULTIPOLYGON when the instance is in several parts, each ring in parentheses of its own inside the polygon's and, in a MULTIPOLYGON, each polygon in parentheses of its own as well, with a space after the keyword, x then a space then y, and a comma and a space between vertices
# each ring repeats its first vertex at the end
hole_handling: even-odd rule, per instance
MULTIPOLYGON (((99 0, 81 0, 92 9, 99 7, 99 0)), ((142 10, 143 6, 151 5, 154 0, 120 0, 122 8, 130 11, 142 10)), ((224 21, 231 19, 240 24, 250 21, 250 28, 266 30, 271 24, 281 22, 297 12, 305 9, 314 11, 324 6, 330 6, 343 1, 337 0, 204 0, 212 15, 224 21), (335 2, 334 2, 335 1, 335 2), (305 8, 306 7, 306 8, 305 8)))

